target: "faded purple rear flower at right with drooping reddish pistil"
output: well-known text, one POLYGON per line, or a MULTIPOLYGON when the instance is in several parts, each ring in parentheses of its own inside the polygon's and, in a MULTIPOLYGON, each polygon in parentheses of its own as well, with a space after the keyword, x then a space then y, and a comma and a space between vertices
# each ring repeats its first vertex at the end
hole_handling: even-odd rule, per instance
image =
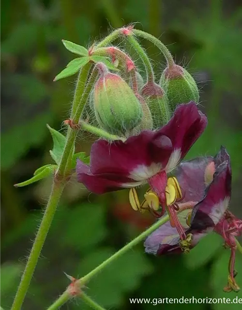
POLYGON ((182 162, 174 174, 185 192, 184 198, 178 203, 178 217, 186 239, 182 240, 177 229, 167 222, 146 239, 146 252, 155 255, 189 252, 203 236, 215 231, 222 235, 226 246, 231 248, 230 273, 225 290, 238 291, 234 280, 235 236, 242 234, 242 220, 227 211, 232 174, 226 149, 221 147, 214 158, 197 157, 182 162))

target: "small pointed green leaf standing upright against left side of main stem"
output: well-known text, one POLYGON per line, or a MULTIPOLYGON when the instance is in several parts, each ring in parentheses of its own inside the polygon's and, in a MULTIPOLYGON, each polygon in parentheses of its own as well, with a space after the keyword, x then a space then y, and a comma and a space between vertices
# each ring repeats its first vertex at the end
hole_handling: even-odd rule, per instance
POLYGON ((54 161, 59 165, 64 151, 66 138, 59 131, 51 128, 48 124, 47 128, 49 129, 54 142, 53 149, 49 151, 49 153, 54 161))

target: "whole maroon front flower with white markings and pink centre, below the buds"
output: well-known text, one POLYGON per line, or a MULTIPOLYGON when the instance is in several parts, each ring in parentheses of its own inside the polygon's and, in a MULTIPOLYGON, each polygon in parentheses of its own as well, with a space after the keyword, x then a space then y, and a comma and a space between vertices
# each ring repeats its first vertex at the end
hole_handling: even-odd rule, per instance
POLYGON ((77 160, 78 182, 96 194, 149 183, 160 198, 166 173, 180 163, 206 125, 206 116, 190 102, 156 131, 143 130, 125 142, 98 140, 91 147, 90 166, 77 160))

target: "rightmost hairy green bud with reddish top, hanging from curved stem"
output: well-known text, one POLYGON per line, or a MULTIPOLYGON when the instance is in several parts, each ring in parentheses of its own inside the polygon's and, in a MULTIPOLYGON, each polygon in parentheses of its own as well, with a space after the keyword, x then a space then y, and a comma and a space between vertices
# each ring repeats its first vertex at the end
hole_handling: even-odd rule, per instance
POLYGON ((181 103, 190 101, 198 103, 199 92, 194 78, 177 64, 165 69, 160 85, 164 88, 173 109, 181 103))

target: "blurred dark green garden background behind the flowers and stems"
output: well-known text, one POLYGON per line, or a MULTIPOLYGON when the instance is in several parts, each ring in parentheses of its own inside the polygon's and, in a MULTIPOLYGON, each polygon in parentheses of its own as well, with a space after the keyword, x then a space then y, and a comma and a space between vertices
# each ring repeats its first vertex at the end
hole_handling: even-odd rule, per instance
MULTIPOLYGON (((110 28, 137 22, 159 37, 177 63, 196 78, 200 107, 209 118, 188 157, 215 155, 223 144, 231 156, 230 209, 242 217, 242 2, 241 0, 1 0, 0 2, 0 305, 9 309, 26 256, 40 223, 51 178, 24 188, 13 184, 51 162, 46 123, 64 133, 75 78, 53 78, 73 59, 61 39, 91 46, 110 28)), ((160 52, 141 41, 155 62, 160 52)), ((80 134, 77 151, 95 137, 80 134)), ((133 212, 126 190, 90 194, 75 179, 68 184, 38 263, 24 310, 43 310, 69 284, 63 272, 81 277, 145 230, 154 219, 133 212)), ((155 258, 140 244, 88 284, 86 293, 107 309, 152 309, 129 298, 242 298, 223 293, 229 251, 209 235, 189 255, 155 258)), ((237 282, 242 287, 242 255, 237 282)), ((239 304, 157 305, 165 309, 237 310, 239 304)), ((89 309, 79 300, 68 310, 89 309)))

